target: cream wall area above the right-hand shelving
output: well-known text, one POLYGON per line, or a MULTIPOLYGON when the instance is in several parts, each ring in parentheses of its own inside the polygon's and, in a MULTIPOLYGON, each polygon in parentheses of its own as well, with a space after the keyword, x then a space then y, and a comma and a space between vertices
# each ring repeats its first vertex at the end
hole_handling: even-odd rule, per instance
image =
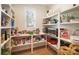
MULTIPOLYGON (((77 4, 79 5, 79 4, 77 4)), ((49 7, 49 15, 65 11, 73 7, 73 4, 54 4, 49 7)))

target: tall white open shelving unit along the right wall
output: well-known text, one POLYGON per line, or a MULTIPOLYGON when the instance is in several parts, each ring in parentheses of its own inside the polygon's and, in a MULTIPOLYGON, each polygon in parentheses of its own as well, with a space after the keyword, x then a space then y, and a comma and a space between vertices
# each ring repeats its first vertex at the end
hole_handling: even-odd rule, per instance
MULTIPOLYGON (((59 54, 58 50, 61 47, 61 42, 60 42, 61 40, 64 42, 69 42, 69 43, 74 43, 74 40, 77 40, 79 42, 79 35, 77 35, 77 36, 73 35, 73 32, 76 29, 77 30, 79 29, 79 14, 78 13, 79 13, 79 5, 73 6, 72 8, 59 12, 58 14, 55 14, 55 15, 52 15, 49 17, 44 17, 44 20, 47 20, 50 18, 55 18, 56 15, 58 16, 58 18, 57 18, 58 22, 56 24, 55 23, 50 24, 49 21, 48 21, 48 23, 43 23, 43 27, 45 27, 45 26, 51 27, 51 28, 48 28, 48 30, 49 29, 54 30, 54 28, 58 29, 58 36, 54 36, 54 34, 52 35, 52 34, 47 33, 47 36, 49 35, 49 36, 52 36, 53 38, 57 38, 57 40, 58 40, 57 45, 51 44, 48 41, 47 42, 48 42, 48 46, 52 47, 52 49, 55 49, 55 51, 57 51, 58 54, 59 54), (65 15, 64 16, 65 18, 63 18, 62 15, 65 15), (68 17, 71 17, 71 18, 68 18, 68 17), (63 32, 61 32, 62 28, 65 28, 68 30, 69 38, 61 37, 61 33, 63 33, 63 32)), ((47 30, 47 28, 45 28, 45 29, 47 30)))

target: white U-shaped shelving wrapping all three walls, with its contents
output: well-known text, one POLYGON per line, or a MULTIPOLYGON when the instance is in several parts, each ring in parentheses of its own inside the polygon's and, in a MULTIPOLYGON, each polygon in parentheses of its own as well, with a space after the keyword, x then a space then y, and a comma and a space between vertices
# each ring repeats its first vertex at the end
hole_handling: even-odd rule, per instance
POLYGON ((47 20, 43 23, 44 33, 39 34, 18 34, 11 35, 11 30, 15 29, 15 11, 12 5, 1 4, 0 5, 0 54, 4 55, 8 53, 9 55, 16 51, 21 51, 24 49, 30 49, 33 53, 33 49, 39 46, 49 46, 54 49, 57 54, 59 54, 59 49, 61 47, 61 40, 64 42, 74 43, 74 40, 79 41, 79 35, 73 34, 75 30, 79 31, 79 6, 74 6, 63 12, 53 14, 48 17, 44 17, 47 20), (71 17, 73 16, 73 17, 71 17), (77 16, 77 17, 76 17, 77 16), (64 17, 64 18, 63 18, 64 17), (71 18, 68 18, 71 17, 71 18), (64 30, 69 37, 63 37, 64 30), (37 41, 35 38, 37 36, 44 35, 45 37, 37 41), (28 38, 30 37, 30 38, 28 38), (18 39, 20 38, 20 39, 18 39), (20 43, 18 41, 20 40, 20 43), (4 52, 6 51, 6 52, 4 52))

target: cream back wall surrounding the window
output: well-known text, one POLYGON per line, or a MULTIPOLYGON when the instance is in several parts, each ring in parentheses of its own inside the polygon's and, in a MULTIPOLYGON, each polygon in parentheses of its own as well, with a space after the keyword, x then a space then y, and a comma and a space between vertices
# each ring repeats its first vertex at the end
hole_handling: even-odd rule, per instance
POLYGON ((26 11, 35 10, 36 11, 36 27, 42 29, 42 20, 46 15, 47 6, 45 5, 13 5, 15 9, 15 18, 16 18, 16 27, 19 27, 19 30, 32 30, 32 27, 27 27, 26 24, 26 11))

